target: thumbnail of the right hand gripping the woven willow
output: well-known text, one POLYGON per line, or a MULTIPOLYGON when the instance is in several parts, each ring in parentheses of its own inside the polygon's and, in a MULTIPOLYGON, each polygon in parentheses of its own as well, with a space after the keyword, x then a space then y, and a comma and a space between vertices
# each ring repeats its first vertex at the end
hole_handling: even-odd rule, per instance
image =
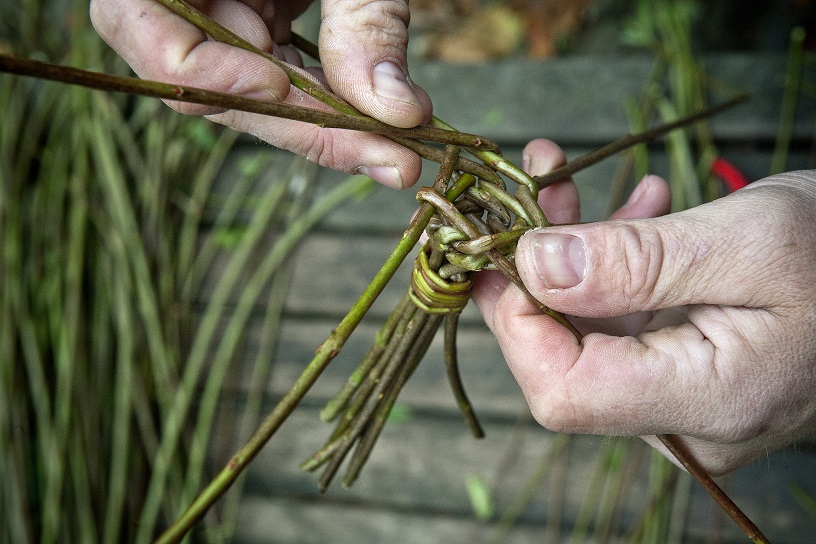
POLYGON ((536 231, 524 238, 528 238, 536 274, 548 289, 567 289, 583 281, 586 255, 580 238, 536 231))

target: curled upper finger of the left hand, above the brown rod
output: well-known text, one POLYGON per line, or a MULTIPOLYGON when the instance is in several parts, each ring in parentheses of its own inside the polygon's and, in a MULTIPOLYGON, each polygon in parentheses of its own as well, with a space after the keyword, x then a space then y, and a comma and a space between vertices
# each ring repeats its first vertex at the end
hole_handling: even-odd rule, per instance
MULTIPOLYGON (((208 15, 264 50, 272 49, 261 17, 241 2, 206 4, 208 15)), ((99 34, 141 77, 213 91, 282 100, 289 79, 268 60, 208 40, 206 34, 151 0, 94 0, 91 17, 99 34)), ((218 111, 210 106, 174 102, 183 113, 218 111)))

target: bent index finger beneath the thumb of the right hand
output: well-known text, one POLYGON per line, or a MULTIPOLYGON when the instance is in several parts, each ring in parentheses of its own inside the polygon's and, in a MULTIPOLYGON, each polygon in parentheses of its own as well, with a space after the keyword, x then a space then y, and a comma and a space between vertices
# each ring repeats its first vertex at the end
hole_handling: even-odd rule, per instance
POLYGON ((707 420, 716 417, 711 406, 692 404, 721 401, 715 349, 690 323, 638 338, 590 334, 579 343, 515 286, 491 322, 530 410, 548 429, 690 434, 715 423, 707 420))

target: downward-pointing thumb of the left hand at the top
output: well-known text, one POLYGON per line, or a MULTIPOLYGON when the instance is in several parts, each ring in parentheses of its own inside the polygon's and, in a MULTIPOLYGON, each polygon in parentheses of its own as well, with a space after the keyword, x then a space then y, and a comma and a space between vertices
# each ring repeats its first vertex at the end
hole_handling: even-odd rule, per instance
POLYGON ((320 57, 332 90, 397 127, 431 116, 427 93, 408 76, 407 0, 324 0, 320 57))

